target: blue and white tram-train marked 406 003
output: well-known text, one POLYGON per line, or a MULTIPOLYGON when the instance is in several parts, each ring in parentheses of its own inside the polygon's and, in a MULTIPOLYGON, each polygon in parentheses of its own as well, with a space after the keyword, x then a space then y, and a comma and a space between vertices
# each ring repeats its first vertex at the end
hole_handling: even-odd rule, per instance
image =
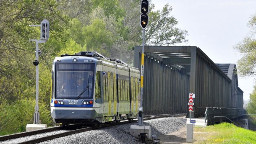
POLYGON ((121 60, 81 51, 55 57, 51 116, 56 123, 105 123, 138 117, 140 71, 121 60))

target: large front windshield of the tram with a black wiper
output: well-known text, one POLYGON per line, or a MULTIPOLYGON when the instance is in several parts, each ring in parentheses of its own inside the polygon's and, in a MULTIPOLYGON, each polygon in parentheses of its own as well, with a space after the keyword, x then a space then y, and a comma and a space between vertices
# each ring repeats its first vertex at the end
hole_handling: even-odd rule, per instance
POLYGON ((56 99, 92 99, 94 64, 56 64, 56 99))

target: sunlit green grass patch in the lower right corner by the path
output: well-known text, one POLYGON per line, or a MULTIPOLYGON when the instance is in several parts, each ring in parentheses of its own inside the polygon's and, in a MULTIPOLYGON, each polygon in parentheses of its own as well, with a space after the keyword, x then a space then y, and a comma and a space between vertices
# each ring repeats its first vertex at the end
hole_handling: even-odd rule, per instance
POLYGON ((194 137, 197 144, 256 144, 256 131, 239 128, 231 123, 195 127, 194 137), (204 136, 203 136, 203 135, 204 136), (200 137, 205 139, 200 139, 200 137))

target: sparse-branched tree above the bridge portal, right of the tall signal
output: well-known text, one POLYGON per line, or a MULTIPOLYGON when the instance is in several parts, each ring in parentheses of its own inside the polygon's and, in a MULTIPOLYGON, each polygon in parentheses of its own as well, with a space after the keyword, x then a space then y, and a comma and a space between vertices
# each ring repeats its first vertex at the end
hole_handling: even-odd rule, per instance
MULTIPOLYGON (((154 5, 151 6, 154 8, 154 5)), ((175 27, 178 21, 170 16, 172 7, 165 4, 162 11, 152 11, 149 13, 149 25, 146 31, 146 44, 153 46, 170 46, 187 42, 185 36, 187 31, 175 27)))

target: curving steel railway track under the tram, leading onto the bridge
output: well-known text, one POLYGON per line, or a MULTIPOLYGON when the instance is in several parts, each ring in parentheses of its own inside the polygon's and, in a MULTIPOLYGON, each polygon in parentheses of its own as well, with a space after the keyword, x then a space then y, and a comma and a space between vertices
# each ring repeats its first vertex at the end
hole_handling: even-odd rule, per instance
MULTIPOLYGON (((156 119, 156 118, 179 117, 179 116, 185 116, 185 113, 166 114, 166 115, 157 115, 157 116, 145 116, 144 121, 156 119)), ((116 126, 116 125, 121 125, 121 124, 126 124, 126 123, 133 123, 133 122, 137 122, 137 121, 138 120, 136 119, 136 120, 132 120, 132 121, 121 121, 120 123, 107 123, 107 124, 99 124, 97 126, 86 126, 86 127, 83 127, 84 125, 57 126, 57 127, 42 129, 42 130, 37 130, 37 131, 30 131, 30 132, 24 132, 24 133, 19 133, 19 134, 12 134, 12 135, 8 135, 8 136, 1 136, 0 141, 17 139, 17 138, 21 138, 21 137, 25 137, 25 136, 36 135, 36 134, 43 134, 43 133, 47 133, 47 132, 51 132, 51 131, 68 130, 68 131, 65 131, 65 132, 62 132, 59 134, 53 134, 53 135, 44 136, 44 137, 40 137, 37 139, 31 139, 28 141, 23 141, 23 142, 18 143, 18 144, 36 144, 36 143, 39 143, 42 141, 47 141, 50 139, 56 139, 56 138, 60 138, 63 136, 77 134, 77 133, 81 133, 84 131, 102 129, 102 128, 106 128, 106 127, 111 127, 111 126, 116 126)))

